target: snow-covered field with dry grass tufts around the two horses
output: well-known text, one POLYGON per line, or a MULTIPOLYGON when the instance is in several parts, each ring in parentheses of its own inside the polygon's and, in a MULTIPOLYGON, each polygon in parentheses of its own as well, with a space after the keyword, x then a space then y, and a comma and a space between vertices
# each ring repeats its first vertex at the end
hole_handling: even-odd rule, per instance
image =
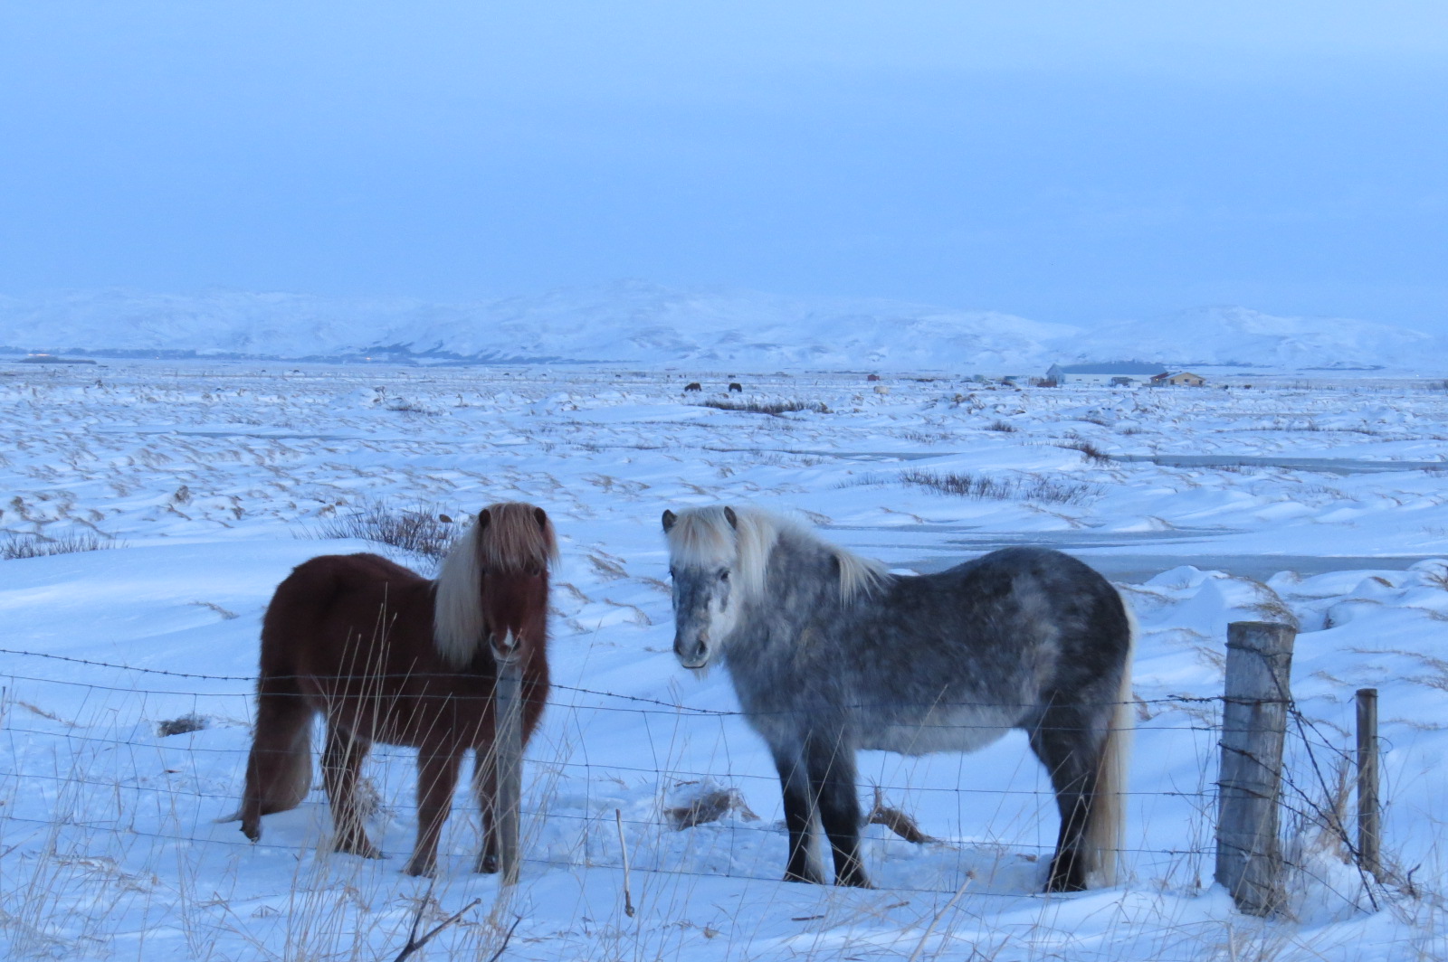
POLYGON ((0 370, 0 553, 106 547, 0 561, 9 955, 392 958, 420 898, 437 920, 481 898, 424 958, 488 959, 517 917, 502 958, 1448 956, 1442 382, 1015 391, 891 376, 876 393, 863 373, 262 367, 0 370), (685 395, 694 379, 705 391, 685 395), (721 393, 728 379, 743 395, 721 393), (702 405, 730 398, 804 409, 702 405), (291 566, 381 550, 427 570, 326 540, 329 525, 378 503, 460 518, 501 499, 546 508, 563 541, 559 687, 529 748, 517 890, 500 898, 471 874, 462 791, 436 882, 400 872, 416 827, 404 749, 368 767, 384 861, 324 852, 320 788, 268 816, 259 845, 217 823, 240 793, 261 613, 291 566), (1032 542, 1121 583, 1142 628, 1122 884, 1037 894, 1056 814, 1024 736, 969 757, 863 754, 866 806, 877 786, 937 840, 870 826, 876 891, 776 881, 763 744, 723 673, 696 680, 670 652, 659 515, 721 499, 799 512, 898 569, 1032 542), (1261 921, 1211 881, 1211 699, 1226 622, 1281 618, 1302 632, 1297 868, 1293 917, 1261 921), (1371 893, 1312 816, 1344 797, 1351 812, 1339 777, 1363 686, 1381 693, 1392 869, 1371 893), (159 733, 187 715, 206 726, 159 733), (669 825, 669 807, 712 788, 741 804, 669 825))

